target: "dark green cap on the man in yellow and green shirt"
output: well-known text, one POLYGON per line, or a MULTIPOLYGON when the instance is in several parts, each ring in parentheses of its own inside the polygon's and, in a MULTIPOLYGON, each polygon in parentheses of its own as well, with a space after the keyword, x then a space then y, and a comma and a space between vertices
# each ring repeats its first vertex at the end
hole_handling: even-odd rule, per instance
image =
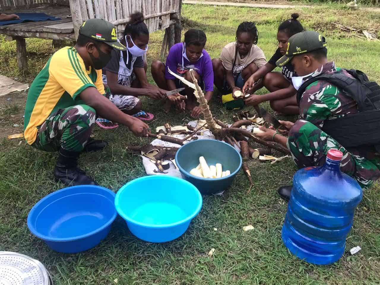
POLYGON ((116 27, 103 19, 88 19, 79 28, 79 34, 96 41, 101 41, 119 51, 127 50, 127 47, 117 41, 116 27))

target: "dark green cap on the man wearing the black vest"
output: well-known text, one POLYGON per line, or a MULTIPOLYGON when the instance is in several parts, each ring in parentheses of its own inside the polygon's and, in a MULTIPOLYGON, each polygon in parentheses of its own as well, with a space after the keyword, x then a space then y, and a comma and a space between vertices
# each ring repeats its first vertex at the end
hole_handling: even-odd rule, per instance
POLYGON ((296 33, 288 40, 288 48, 283 57, 277 60, 276 65, 283 67, 289 63, 295 55, 306 54, 307 52, 315 51, 326 47, 325 37, 314 31, 304 31, 296 33))

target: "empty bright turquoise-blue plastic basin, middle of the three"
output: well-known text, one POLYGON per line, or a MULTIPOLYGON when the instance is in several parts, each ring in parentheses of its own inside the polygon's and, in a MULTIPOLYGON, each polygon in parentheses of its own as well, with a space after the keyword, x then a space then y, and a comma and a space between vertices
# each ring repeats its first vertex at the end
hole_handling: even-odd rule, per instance
POLYGON ((144 176, 120 188, 115 207, 136 237, 148 242, 167 242, 187 230, 201 210, 202 196, 183 179, 144 176))

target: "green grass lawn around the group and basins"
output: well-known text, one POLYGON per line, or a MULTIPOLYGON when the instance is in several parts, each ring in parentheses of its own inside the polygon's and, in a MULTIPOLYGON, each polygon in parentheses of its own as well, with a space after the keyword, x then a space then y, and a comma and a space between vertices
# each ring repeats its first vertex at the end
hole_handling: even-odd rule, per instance
MULTIPOLYGON (((276 49, 277 26, 292 10, 249 9, 184 5, 184 30, 202 28, 207 35, 206 50, 218 57, 222 47, 234 41, 237 25, 255 21, 260 32, 258 45, 267 59, 276 49)), ((354 28, 377 28, 380 13, 353 12, 343 6, 302 9, 302 24, 324 33, 328 54, 337 66, 357 68, 380 82, 380 42, 364 41, 332 28, 338 22, 354 28)), ((163 33, 151 35, 148 61, 158 58, 163 33)), ((28 39, 30 73, 17 74, 14 42, 0 37, 0 73, 31 82, 57 50, 51 41, 28 39)), ((148 70, 148 74, 149 70, 148 70)), ((149 75, 149 80, 152 81, 149 75)), ((261 90, 260 92, 264 92, 261 90)), ((8 98, 6 96, 3 98, 8 98)), ((0 132, 20 132, 26 93, 17 100, 1 100, 0 132)), ((264 107, 269 108, 266 104, 264 107)), ((145 100, 144 110, 155 114, 152 129, 169 122, 182 124, 189 114, 164 114, 161 105, 145 100)), ((232 121, 231 112, 212 102, 211 111, 221 120, 232 121)), ((293 118, 294 119, 294 118, 293 118)), ((105 131, 95 128, 95 136, 109 146, 97 154, 81 156, 80 166, 100 185, 114 192, 126 182, 144 176, 141 158, 128 154, 125 147, 146 143, 125 127, 105 131)), ((257 147, 253 144, 253 146, 257 147)), ((0 250, 33 256, 51 272, 54 284, 378 284, 380 282, 380 187, 364 192, 348 234, 346 253, 330 266, 315 266, 291 255, 281 240, 287 204, 277 196, 280 185, 290 184, 296 167, 291 159, 274 165, 249 161, 255 187, 247 195, 248 182, 241 172, 223 196, 204 196, 203 209, 179 239, 152 244, 138 240, 120 218, 108 238, 87 252, 65 255, 53 252, 28 231, 26 219, 41 198, 63 187, 52 181, 57 154, 32 149, 22 139, 0 141, 0 250), (19 144, 19 141, 21 143, 19 144), (243 226, 255 229, 244 232, 243 226), (214 231, 213 228, 217 228, 214 231), (354 256, 347 251, 360 245, 354 256), (212 258, 207 252, 215 248, 212 258)), ((221 154, 223 155, 223 154, 221 154)), ((280 154, 275 154, 279 156, 280 154)))

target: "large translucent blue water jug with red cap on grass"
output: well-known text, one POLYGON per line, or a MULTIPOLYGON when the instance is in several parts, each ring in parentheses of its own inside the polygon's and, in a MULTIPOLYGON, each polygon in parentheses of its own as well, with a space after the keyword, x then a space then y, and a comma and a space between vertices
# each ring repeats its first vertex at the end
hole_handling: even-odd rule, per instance
POLYGON ((282 241, 291 253, 309 263, 330 264, 344 253, 356 206, 363 191, 340 171, 343 154, 329 150, 321 167, 294 174, 282 241))

